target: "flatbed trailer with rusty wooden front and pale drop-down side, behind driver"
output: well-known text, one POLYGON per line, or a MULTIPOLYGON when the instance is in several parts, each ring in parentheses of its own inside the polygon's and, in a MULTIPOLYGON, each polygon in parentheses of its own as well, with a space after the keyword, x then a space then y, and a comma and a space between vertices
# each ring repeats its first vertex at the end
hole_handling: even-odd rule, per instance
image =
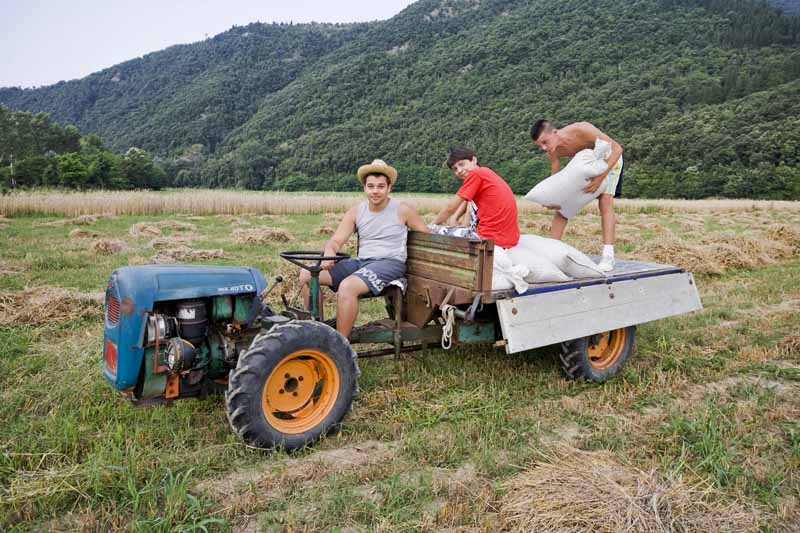
POLYGON ((492 344, 508 354, 561 348, 568 377, 605 381, 633 351, 638 324, 702 309, 684 269, 619 260, 605 278, 493 291, 491 240, 410 232, 405 291, 386 291, 388 318, 356 327, 352 344, 388 343, 361 358, 441 344, 492 344))

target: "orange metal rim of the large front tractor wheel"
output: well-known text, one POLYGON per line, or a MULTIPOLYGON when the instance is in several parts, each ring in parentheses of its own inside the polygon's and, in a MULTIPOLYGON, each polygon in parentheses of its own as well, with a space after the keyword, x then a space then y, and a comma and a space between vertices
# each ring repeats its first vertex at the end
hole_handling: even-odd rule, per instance
POLYGON ((267 422, 281 433, 304 433, 322 422, 339 395, 339 371, 318 350, 299 350, 275 366, 261 399, 267 422))

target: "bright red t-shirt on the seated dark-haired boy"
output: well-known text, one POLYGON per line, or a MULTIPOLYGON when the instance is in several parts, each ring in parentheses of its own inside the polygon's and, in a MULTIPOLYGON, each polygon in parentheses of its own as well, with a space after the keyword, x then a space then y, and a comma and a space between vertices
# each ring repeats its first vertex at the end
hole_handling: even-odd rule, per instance
POLYGON ((490 168, 478 167, 467 174, 456 194, 478 206, 478 235, 494 239, 502 248, 517 245, 517 200, 503 178, 490 168))

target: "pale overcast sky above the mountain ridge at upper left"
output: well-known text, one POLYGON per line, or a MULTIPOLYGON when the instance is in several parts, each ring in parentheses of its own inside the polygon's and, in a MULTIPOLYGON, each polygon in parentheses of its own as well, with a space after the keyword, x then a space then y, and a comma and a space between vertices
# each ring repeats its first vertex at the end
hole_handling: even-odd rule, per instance
POLYGON ((251 22, 391 18, 412 0, 0 0, 0 87, 82 78, 251 22))

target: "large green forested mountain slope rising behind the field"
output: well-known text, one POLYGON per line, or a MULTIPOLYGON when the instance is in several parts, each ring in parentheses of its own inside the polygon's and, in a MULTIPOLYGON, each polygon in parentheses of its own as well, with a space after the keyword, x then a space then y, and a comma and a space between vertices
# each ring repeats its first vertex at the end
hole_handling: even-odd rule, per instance
POLYGON ((626 193, 800 198, 798 80, 800 19, 761 0, 420 0, 234 27, 0 104, 144 148, 177 185, 346 189, 381 157, 399 188, 450 191, 464 143, 523 192, 544 116, 619 140, 626 193))

